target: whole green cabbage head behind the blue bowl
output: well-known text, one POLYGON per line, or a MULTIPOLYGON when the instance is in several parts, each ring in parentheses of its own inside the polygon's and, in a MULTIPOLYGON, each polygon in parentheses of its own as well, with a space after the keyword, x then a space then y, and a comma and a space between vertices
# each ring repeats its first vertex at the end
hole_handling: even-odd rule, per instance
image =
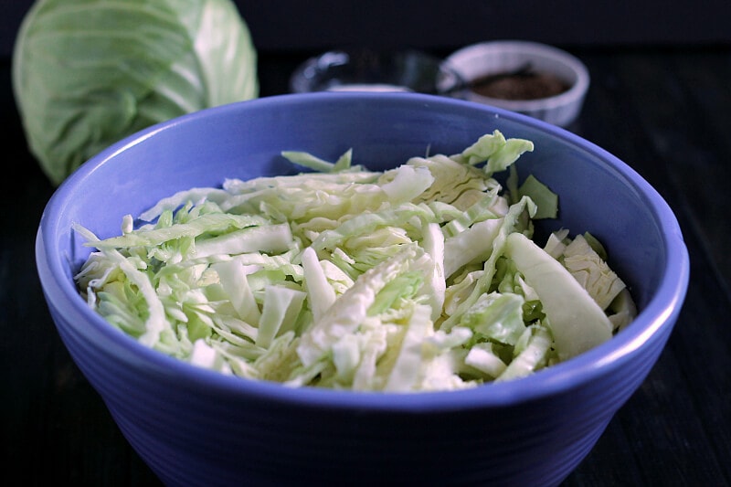
POLYGON ((28 146, 54 185, 133 132, 259 95, 230 0, 37 0, 12 62, 28 146))

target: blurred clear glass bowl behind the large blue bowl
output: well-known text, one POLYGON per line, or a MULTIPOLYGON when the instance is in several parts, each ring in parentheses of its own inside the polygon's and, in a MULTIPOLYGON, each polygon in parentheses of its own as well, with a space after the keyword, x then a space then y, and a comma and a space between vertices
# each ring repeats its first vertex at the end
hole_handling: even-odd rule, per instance
POLYGON ((439 94, 461 79, 418 50, 343 48, 307 59, 291 74, 292 93, 311 91, 413 91, 439 94))

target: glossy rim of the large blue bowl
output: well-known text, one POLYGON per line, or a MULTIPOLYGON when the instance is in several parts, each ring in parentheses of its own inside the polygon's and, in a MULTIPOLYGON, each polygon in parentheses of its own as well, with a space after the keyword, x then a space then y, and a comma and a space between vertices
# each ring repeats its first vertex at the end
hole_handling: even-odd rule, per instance
MULTIPOLYGON (((628 164, 616 156, 572 132, 535 118, 482 105, 438 95, 405 92, 313 92, 290 93, 264 97, 250 101, 239 101, 214 108, 188 113, 167 122, 158 123, 141 132, 132 134, 118 143, 112 144, 100 154, 82 164, 72 175, 58 186, 48 200, 41 216, 36 238, 37 271, 48 305, 58 306, 61 312, 69 312, 71 319, 84 319, 101 333, 105 339, 115 341, 124 352, 135 357, 147 368, 164 370, 165 374, 184 376, 192 386, 206 386, 227 395, 260 398, 280 404, 300 407, 380 410, 398 412, 436 412, 466 408, 500 408, 517 403, 533 401, 540 397, 560 394, 580 384, 591 382, 599 376, 621 368, 621 365, 636 354, 642 344, 652 340, 652 336, 664 326, 673 326, 674 319, 683 304, 689 278, 688 251, 683 242, 681 229, 670 206, 657 191, 628 164), (450 108, 469 111, 484 111, 486 115, 501 117, 528 125, 565 143, 596 154, 605 164, 613 166, 627 178, 634 189, 640 193, 652 214, 659 222, 664 238, 664 251, 671 257, 659 281, 657 291, 650 302, 641 310, 635 321, 614 336, 609 342, 588 350, 567 362, 552 365, 532 376, 503 383, 490 383, 457 391, 435 391, 417 393, 354 392, 321 389, 315 387, 291 388, 279 383, 249 380, 239 376, 226 376, 219 372, 191 365, 175 357, 140 344, 131 336, 123 333, 106 322, 101 315, 93 312, 80 296, 75 285, 67 277, 68 261, 64 255, 49 242, 56 240, 61 214, 73 198, 75 186, 83 183, 103 164, 110 164, 115 154, 125 148, 141 143, 161 131, 175 130, 177 125, 196 123, 208 117, 230 111, 248 111, 249 107, 280 107, 281 104, 327 103, 340 100, 388 101, 404 103, 427 103, 439 109, 450 108), (51 304, 51 302, 53 304, 51 304)), ((55 318, 54 318, 55 321, 55 318)), ((58 324, 57 324, 58 326, 58 324)), ((84 325, 86 326, 86 325, 84 325)))

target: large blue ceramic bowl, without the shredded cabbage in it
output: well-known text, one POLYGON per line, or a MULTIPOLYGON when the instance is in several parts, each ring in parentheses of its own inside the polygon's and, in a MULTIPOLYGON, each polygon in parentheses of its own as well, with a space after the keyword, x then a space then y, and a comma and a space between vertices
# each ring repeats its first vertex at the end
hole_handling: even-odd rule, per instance
POLYGON ((662 197, 627 164, 546 122, 469 101, 313 93, 244 101, 115 144, 48 202, 37 269, 58 333, 124 436, 169 485, 556 485, 588 454, 662 352, 688 283, 662 197), (611 341, 513 382, 459 392, 353 393, 223 376, 138 344, 92 312, 72 276, 89 255, 71 223, 119 233, 121 217, 227 176, 291 172, 281 150, 372 169, 454 154, 485 132, 534 141, 517 164, 559 195, 560 227, 590 231, 641 310, 611 341))

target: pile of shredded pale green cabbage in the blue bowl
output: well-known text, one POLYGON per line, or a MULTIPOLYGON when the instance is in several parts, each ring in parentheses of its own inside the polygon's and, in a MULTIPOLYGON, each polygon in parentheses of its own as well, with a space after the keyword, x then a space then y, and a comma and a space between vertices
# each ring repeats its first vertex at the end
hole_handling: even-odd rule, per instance
POLYGON ((75 280, 122 332, 223 374, 396 393, 528 376, 637 313, 596 238, 531 239, 557 211, 516 184, 533 150, 494 131, 384 172, 285 151, 308 170, 182 191, 117 237, 75 225, 95 248, 75 280))

